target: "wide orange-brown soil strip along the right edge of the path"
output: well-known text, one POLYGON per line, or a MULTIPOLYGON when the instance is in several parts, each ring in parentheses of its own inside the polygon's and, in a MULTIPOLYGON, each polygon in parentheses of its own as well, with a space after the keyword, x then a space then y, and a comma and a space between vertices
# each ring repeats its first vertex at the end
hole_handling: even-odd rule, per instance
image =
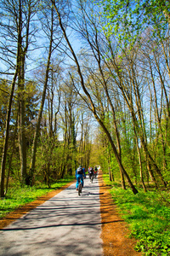
POLYGON ((100 211, 104 256, 140 256, 133 247, 136 240, 128 238, 127 224, 121 218, 116 205, 111 199, 109 189, 105 186, 102 173, 99 173, 100 211))

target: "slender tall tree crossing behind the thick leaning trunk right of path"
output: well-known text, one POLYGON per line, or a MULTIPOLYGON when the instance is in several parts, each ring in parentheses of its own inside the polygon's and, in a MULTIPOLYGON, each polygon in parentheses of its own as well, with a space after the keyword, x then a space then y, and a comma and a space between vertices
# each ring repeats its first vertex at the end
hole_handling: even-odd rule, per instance
MULTIPOLYGON (((87 2, 88 3, 88 2, 87 2)), ((94 60, 96 61, 96 64, 99 68, 99 75, 100 78, 98 79, 98 83, 102 85, 103 89, 105 90, 105 96, 107 98, 107 102, 109 102, 110 107, 111 107, 111 113, 112 113, 112 120, 113 120, 113 125, 115 129, 115 134, 116 136, 116 148, 117 152, 119 154, 119 159, 120 161, 122 160, 122 153, 121 153, 121 142, 120 142, 120 135, 117 127, 117 121, 116 121, 116 110, 114 107, 114 102, 110 94, 110 86, 108 84, 108 76, 105 75, 105 62, 104 60, 104 55, 102 54, 104 51, 107 51, 106 49, 106 43, 107 41, 104 41, 104 35, 102 35, 101 32, 101 26, 99 24, 98 18, 96 18, 94 13, 94 6, 90 6, 90 3, 88 6, 84 3, 80 3, 80 9, 81 9, 81 14, 79 12, 79 18, 76 20, 76 30, 77 32, 82 35, 82 40, 87 43, 87 46, 89 49, 91 49, 92 54, 94 55, 94 60), (91 15, 89 15, 91 13, 91 15)), ((97 13, 97 10, 96 10, 97 13)), ((97 73, 95 74, 97 76, 97 73)), ((99 97, 99 96, 98 96, 99 97)), ((121 174, 121 179, 122 179, 122 188, 125 189, 125 182, 124 182, 124 177, 123 173, 121 172, 120 169, 120 174, 121 174)))

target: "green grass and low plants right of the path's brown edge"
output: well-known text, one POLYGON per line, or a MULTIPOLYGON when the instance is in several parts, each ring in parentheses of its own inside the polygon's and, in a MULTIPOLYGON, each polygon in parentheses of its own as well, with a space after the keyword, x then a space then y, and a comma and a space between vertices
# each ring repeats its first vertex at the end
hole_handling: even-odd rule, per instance
POLYGON ((103 176, 105 184, 110 185, 113 201, 122 218, 129 224, 131 236, 138 242, 137 251, 147 256, 170 255, 170 204, 168 191, 149 191, 139 189, 133 195, 131 189, 123 190, 116 183, 103 176))

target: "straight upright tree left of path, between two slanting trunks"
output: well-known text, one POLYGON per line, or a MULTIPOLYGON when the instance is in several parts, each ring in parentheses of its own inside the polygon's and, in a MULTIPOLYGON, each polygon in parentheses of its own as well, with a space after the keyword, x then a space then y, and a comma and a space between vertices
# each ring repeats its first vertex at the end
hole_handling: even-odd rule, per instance
MULTIPOLYGON (((28 0, 26 3, 19 1, 1 1, 3 22, 1 31, 3 37, 1 51, 4 53, 3 62, 8 70, 17 70, 18 76, 18 100, 20 105, 19 119, 19 145, 20 145, 20 172, 22 181, 26 182, 26 141, 25 141, 25 72, 26 55, 31 31, 31 20, 35 15, 38 1, 28 0), (7 23, 8 21, 8 23, 7 23), (8 24, 8 25, 7 25, 8 24), (11 42, 12 44, 8 44, 11 42), (17 53, 16 53, 17 52, 17 53), (15 59, 17 55, 17 59, 15 59), (16 62, 16 64, 15 64, 16 62)), ((15 76, 15 73, 14 73, 15 76)))

